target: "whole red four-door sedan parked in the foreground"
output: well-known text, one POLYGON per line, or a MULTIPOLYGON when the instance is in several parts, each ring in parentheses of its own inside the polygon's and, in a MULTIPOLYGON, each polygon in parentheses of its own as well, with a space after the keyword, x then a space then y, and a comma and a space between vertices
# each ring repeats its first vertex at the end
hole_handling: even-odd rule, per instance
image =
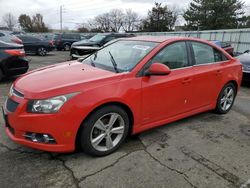
POLYGON ((215 109, 227 113, 242 66, 204 40, 120 39, 88 56, 20 77, 3 108, 6 133, 51 152, 115 151, 129 134, 215 109))

